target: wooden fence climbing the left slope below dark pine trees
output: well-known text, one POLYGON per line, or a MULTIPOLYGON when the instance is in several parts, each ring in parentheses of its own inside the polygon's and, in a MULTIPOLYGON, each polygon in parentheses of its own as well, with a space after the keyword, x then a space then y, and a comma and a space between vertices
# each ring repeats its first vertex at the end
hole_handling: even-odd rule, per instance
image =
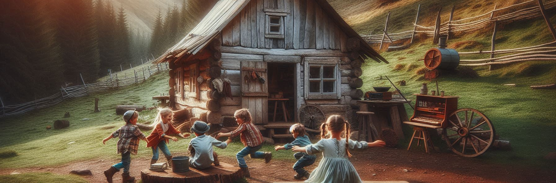
MULTIPOLYGON (((0 111, 1 112, 0 118, 3 118, 5 116, 20 115, 34 109, 41 109, 41 108, 53 106, 61 103, 62 101, 68 98, 76 98, 91 93, 106 92, 118 88, 128 87, 133 84, 145 82, 153 74, 156 74, 158 72, 164 72, 167 70, 168 70, 168 63, 161 63, 156 65, 152 64, 147 69, 143 67, 143 69, 139 70, 138 72, 137 70, 134 70, 133 71, 134 75, 131 75, 130 77, 124 77, 121 79, 117 78, 116 73, 110 73, 109 74, 110 77, 108 77, 108 79, 106 79, 106 81, 104 82, 97 82, 97 83, 90 83, 90 84, 84 83, 82 85, 76 85, 67 88, 61 87, 59 93, 53 94, 46 98, 29 101, 23 104, 4 106, 4 103, 0 99, 0 104, 2 105, 0 111)), ((125 72, 125 70, 123 70, 123 72, 125 72)))

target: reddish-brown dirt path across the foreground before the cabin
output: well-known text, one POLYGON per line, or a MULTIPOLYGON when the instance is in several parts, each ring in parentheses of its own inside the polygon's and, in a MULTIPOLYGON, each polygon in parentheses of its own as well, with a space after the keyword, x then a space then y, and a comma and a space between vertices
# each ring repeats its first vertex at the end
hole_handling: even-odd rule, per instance
MULTIPOLYGON (((176 154, 180 155, 180 154, 176 154)), ((183 154, 181 154, 183 155, 183 154)), ((293 157, 292 157, 293 159, 293 157)), ((320 158, 319 158, 320 159, 320 158)), ((0 170, 0 174, 12 172, 54 172, 68 174, 73 169, 87 168, 93 172, 92 176, 84 176, 91 182, 106 182, 102 171, 110 167, 117 160, 90 160, 71 162, 56 167, 29 167, 25 169, 0 170)), ((133 159, 131 174, 140 179, 142 169, 148 168, 148 159, 133 159)), ((221 161, 235 165, 235 159, 221 157, 221 161)), ((308 170, 313 170, 319 160, 308 170)), ((405 180, 411 183, 419 182, 554 182, 556 171, 540 170, 535 167, 520 165, 501 165, 485 163, 480 159, 465 158, 448 153, 425 154, 419 150, 411 152, 403 149, 371 149, 356 152, 351 162, 362 180, 387 181, 405 180), (404 171, 408 170, 407 172, 404 171), (376 174, 376 175, 374 175, 376 174)), ((247 158, 250 165, 251 178, 249 182, 296 181, 295 172, 291 166, 294 161, 271 161, 264 164, 262 160, 247 158)), ((116 174, 114 182, 120 182, 121 176, 116 174)))

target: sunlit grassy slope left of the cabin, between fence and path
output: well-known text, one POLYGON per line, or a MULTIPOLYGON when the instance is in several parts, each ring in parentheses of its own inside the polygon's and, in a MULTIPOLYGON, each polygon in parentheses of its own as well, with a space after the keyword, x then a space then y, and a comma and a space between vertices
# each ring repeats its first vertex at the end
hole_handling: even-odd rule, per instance
MULTIPOLYGON (((151 97, 167 92, 167 74, 153 75, 147 82, 123 88, 115 92, 96 93, 81 98, 66 100, 51 108, 31 111, 25 115, 0 119, 3 128, 0 129, 0 151, 15 150, 18 156, 2 159, 0 169, 7 167, 51 166, 64 164, 76 160, 87 160, 101 157, 106 160, 119 158, 116 154, 116 140, 110 140, 106 145, 102 139, 118 129, 123 122, 121 115, 115 115, 115 106, 122 104, 140 104, 153 106, 155 100, 151 97), (93 113, 93 101, 99 98, 100 113, 93 113), (47 130, 53 120, 63 119, 63 114, 69 111, 71 118, 67 118, 71 125, 62 130, 47 130), (90 120, 82 121, 88 118, 90 120), (75 141, 75 143, 68 144, 75 141), (63 158, 61 157, 63 155, 63 158)), ((139 123, 154 119, 156 111, 140 112, 139 123)), ((150 131, 143 131, 148 135, 150 131)), ((185 153, 189 139, 172 142, 169 148, 172 153, 185 153)), ((150 157, 150 148, 145 148, 145 142, 140 143, 136 157, 150 157)), ((265 145, 262 150, 270 151, 274 146, 265 145)), ((216 151, 219 154, 235 157, 235 153, 243 148, 239 140, 227 149, 216 151)), ((291 152, 280 151, 274 157, 286 159, 291 152)))

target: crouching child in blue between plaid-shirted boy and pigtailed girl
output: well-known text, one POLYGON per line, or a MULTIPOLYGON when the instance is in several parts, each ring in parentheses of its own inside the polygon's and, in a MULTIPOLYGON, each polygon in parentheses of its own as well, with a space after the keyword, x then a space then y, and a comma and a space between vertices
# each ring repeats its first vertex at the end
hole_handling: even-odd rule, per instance
MULTIPOLYGON (((284 146, 277 145, 274 147, 276 151, 280 149, 290 150, 294 145, 305 147, 306 145, 311 144, 311 140, 309 140, 309 136, 305 135, 305 126, 302 124, 294 124, 290 127, 290 133, 294 136, 295 140, 291 143, 284 144, 284 146)), ((294 164, 294 171, 297 174, 294 175, 294 179, 302 179, 305 177, 309 179, 311 175, 309 171, 305 170, 305 166, 309 166, 315 163, 316 155, 309 155, 307 153, 297 152, 294 154, 295 159, 297 162, 294 164)))

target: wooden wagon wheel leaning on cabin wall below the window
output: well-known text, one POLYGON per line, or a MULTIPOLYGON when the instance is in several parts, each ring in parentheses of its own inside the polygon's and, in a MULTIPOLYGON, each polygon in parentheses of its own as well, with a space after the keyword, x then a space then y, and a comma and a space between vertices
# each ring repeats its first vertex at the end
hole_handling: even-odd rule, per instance
POLYGON ((302 106, 297 116, 299 116, 299 123, 313 130, 320 130, 320 124, 325 120, 324 113, 316 105, 302 106))

